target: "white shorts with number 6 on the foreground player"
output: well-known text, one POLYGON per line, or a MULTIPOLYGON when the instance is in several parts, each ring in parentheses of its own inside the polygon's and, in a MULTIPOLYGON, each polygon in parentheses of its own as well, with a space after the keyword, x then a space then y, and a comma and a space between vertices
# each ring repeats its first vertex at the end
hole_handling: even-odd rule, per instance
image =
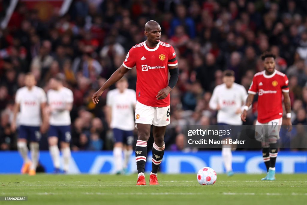
POLYGON ((157 127, 167 126, 171 122, 169 106, 151 107, 136 101, 135 123, 154 125, 157 127))

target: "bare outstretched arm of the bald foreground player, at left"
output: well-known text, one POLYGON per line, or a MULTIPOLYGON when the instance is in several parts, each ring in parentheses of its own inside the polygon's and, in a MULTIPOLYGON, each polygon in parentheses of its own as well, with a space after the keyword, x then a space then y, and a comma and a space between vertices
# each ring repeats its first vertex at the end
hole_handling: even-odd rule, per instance
POLYGON ((119 79, 122 78, 122 76, 124 76, 126 74, 126 72, 128 72, 130 69, 124 67, 123 65, 121 65, 119 67, 119 69, 117 69, 112 75, 111 77, 107 80, 107 82, 105 82, 100 89, 94 93, 93 97, 92 97, 92 101, 94 104, 98 104, 99 102, 99 97, 102 95, 103 91, 105 89, 107 89, 108 87, 110 87, 111 85, 113 85, 114 83, 116 83, 117 81, 119 81, 119 79))

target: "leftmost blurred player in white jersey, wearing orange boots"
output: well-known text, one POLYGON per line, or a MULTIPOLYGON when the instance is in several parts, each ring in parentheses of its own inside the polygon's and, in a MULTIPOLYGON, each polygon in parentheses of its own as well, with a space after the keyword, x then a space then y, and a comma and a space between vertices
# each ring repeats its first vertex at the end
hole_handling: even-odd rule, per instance
POLYGON ((46 94, 42 88, 35 86, 35 84, 34 75, 26 74, 25 87, 19 88, 16 92, 14 118, 11 125, 12 130, 15 131, 17 128, 17 113, 20 111, 17 149, 23 159, 21 173, 29 173, 29 175, 36 174, 41 132, 44 133, 48 126, 46 118, 41 114, 46 105, 46 94), (30 141, 32 162, 28 157, 28 141, 30 141))

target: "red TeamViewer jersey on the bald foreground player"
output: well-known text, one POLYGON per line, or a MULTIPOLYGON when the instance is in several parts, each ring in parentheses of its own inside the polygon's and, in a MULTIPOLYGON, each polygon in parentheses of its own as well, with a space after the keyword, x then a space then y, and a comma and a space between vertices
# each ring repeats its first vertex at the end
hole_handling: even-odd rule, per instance
POLYGON ((168 66, 175 66, 176 52, 170 44, 160 41, 155 48, 148 48, 145 41, 133 46, 123 62, 128 69, 136 66, 136 99, 152 107, 166 107, 170 104, 169 95, 157 100, 158 92, 169 84, 168 66))

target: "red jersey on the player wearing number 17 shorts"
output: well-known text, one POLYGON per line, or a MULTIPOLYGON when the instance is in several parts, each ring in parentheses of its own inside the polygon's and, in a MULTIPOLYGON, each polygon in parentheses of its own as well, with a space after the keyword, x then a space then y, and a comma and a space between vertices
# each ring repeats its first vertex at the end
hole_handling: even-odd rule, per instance
POLYGON ((289 92, 289 80, 277 70, 272 75, 265 71, 254 75, 249 94, 258 92, 258 122, 267 123, 282 117, 282 92, 289 92))

